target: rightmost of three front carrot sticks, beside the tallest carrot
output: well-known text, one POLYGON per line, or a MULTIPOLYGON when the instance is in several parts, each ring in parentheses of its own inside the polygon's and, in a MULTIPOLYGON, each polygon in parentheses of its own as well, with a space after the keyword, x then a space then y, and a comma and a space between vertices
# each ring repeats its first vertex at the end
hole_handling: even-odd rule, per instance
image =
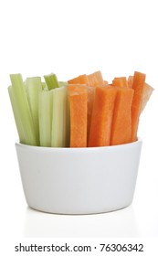
POLYGON ((118 87, 111 128, 111 145, 128 144, 132 137, 133 90, 118 87))

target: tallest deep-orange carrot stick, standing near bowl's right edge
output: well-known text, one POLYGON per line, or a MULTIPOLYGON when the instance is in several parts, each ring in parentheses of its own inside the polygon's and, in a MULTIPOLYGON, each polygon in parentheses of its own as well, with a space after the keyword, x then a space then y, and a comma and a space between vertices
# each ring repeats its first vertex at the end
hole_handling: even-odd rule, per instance
POLYGON ((132 88, 134 90, 132 100, 132 142, 137 140, 139 117, 142 108, 142 94, 144 82, 145 74, 135 71, 132 83, 132 88))

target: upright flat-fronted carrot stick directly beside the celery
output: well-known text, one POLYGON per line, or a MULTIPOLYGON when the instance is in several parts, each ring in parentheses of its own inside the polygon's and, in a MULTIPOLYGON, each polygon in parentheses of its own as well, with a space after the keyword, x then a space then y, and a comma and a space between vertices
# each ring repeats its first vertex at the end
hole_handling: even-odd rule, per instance
POLYGON ((70 147, 87 146, 88 90, 84 85, 68 85, 70 147))

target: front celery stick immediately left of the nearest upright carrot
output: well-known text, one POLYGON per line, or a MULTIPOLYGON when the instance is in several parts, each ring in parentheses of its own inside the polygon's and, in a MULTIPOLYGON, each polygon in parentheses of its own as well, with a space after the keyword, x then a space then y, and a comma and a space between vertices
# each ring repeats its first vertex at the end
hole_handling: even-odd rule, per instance
POLYGON ((65 147, 67 144, 68 88, 53 90, 53 120, 51 146, 65 147))

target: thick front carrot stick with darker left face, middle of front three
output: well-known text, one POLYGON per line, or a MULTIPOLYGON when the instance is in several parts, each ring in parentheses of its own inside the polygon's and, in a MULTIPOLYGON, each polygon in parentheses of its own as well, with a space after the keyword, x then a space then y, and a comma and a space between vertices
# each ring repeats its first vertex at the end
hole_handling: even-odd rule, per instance
POLYGON ((112 86, 96 87, 88 146, 110 145, 116 92, 112 86))

